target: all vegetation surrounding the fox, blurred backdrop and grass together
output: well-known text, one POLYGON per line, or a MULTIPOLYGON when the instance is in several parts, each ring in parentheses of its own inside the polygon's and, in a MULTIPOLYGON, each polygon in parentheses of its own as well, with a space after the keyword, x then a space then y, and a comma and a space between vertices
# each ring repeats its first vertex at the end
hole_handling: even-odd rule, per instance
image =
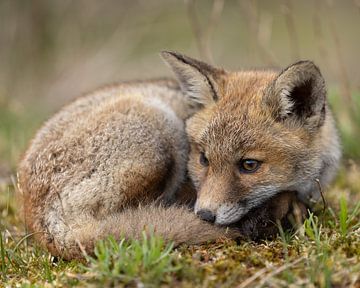
POLYGON ((0 1, 0 287, 83 281, 84 286, 359 286, 358 27, 358 0, 0 1), (109 240, 87 266, 56 261, 23 238, 14 196, 18 159, 39 125, 80 94, 109 82, 170 76, 158 56, 166 49, 229 70, 313 60, 327 81, 345 155, 337 181, 326 191, 330 207, 274 241, 220 241, 169 252, 156 239, 121 247, 109 240), (157 254, 145 267, 141 259, 149 243, 157 254), (129 266, 119 262, 120 252, 129 266), (124 280, 126 269, 139 276, 124 280))

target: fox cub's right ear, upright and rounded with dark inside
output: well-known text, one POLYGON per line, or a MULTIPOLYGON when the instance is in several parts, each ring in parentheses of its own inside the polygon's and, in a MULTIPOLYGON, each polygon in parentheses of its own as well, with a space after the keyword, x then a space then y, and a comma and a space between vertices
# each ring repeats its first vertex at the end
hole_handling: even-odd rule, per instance
POLYGON ((297 120, 309 127, 323 124, 326 112, 325 81, 311 61, 297 62, 269 87, 268 103, 277 120, 297 120))

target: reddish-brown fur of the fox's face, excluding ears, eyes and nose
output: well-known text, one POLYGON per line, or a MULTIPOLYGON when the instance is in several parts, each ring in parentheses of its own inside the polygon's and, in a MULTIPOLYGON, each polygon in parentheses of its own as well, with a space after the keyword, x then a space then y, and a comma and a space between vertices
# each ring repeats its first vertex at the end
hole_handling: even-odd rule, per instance
MULTIPOLYGON (((273 71, 221 71, 215 78, 219 99, 206 103, 188 120, 188 169, 198 190, 197 210, 219 214, 221 205, 254 200, 257 187, 269 191, 269 196, 265 191, 258 195, 258 203, 273 195, 272 190, 295 190, 307 201, 307 197, 318 197, 317 178, 323 186, 331 180, 340 151, 330 111, 327 108, 325 123, 317 129, 300 122, 307 119, 289 116, 278 121, 279 104, 267 104, 269 99, 274 101, 269 87, 277 77, 273 71), (200 164, 201 152, 209 167, 200 164), (262 165, 256 173, 239 173, 241 159, 257 159, 262 165), (301 191, 301 186, 306 190, 301 191)), ((288 81, 292 81, 290 76, 288 81)), ((244 208, 244 213, 249 209, 244 208)))

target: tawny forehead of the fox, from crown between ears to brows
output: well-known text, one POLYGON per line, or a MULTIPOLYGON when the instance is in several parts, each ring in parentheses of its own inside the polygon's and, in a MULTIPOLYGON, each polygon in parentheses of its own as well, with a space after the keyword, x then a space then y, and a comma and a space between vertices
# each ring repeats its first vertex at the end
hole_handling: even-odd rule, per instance
POLYGON ((270 147, 282 151, 299 148, 299 138, 306 139, 303 131, 286 131, 264 104, 265 89, 275 77, 271 71, 228 74, 222 81, 219 100, 189 120, 189 136, 217 157, 241 157, 239 154, 270 147))

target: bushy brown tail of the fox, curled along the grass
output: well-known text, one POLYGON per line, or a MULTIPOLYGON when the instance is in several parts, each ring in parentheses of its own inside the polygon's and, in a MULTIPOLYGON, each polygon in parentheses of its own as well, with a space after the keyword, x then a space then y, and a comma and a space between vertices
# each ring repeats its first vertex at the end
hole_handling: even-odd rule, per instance
POLYGON ((52 254, 65 259, 83 258, 85 254, 93 253, 94 246, 100 239, 109 235, 115 238, 140 239, 144 230, 154 231, 155 235, 161 236, 165 241, 173 241, 175 246, 239 236, 236 230, 208 224, 186 207, 180 206, 150 204, 129 208, 103 219, 83 216, 73 221, 73 224, 67 225, 67 233, 49 230, 53 241, 46 246, 52 254))

